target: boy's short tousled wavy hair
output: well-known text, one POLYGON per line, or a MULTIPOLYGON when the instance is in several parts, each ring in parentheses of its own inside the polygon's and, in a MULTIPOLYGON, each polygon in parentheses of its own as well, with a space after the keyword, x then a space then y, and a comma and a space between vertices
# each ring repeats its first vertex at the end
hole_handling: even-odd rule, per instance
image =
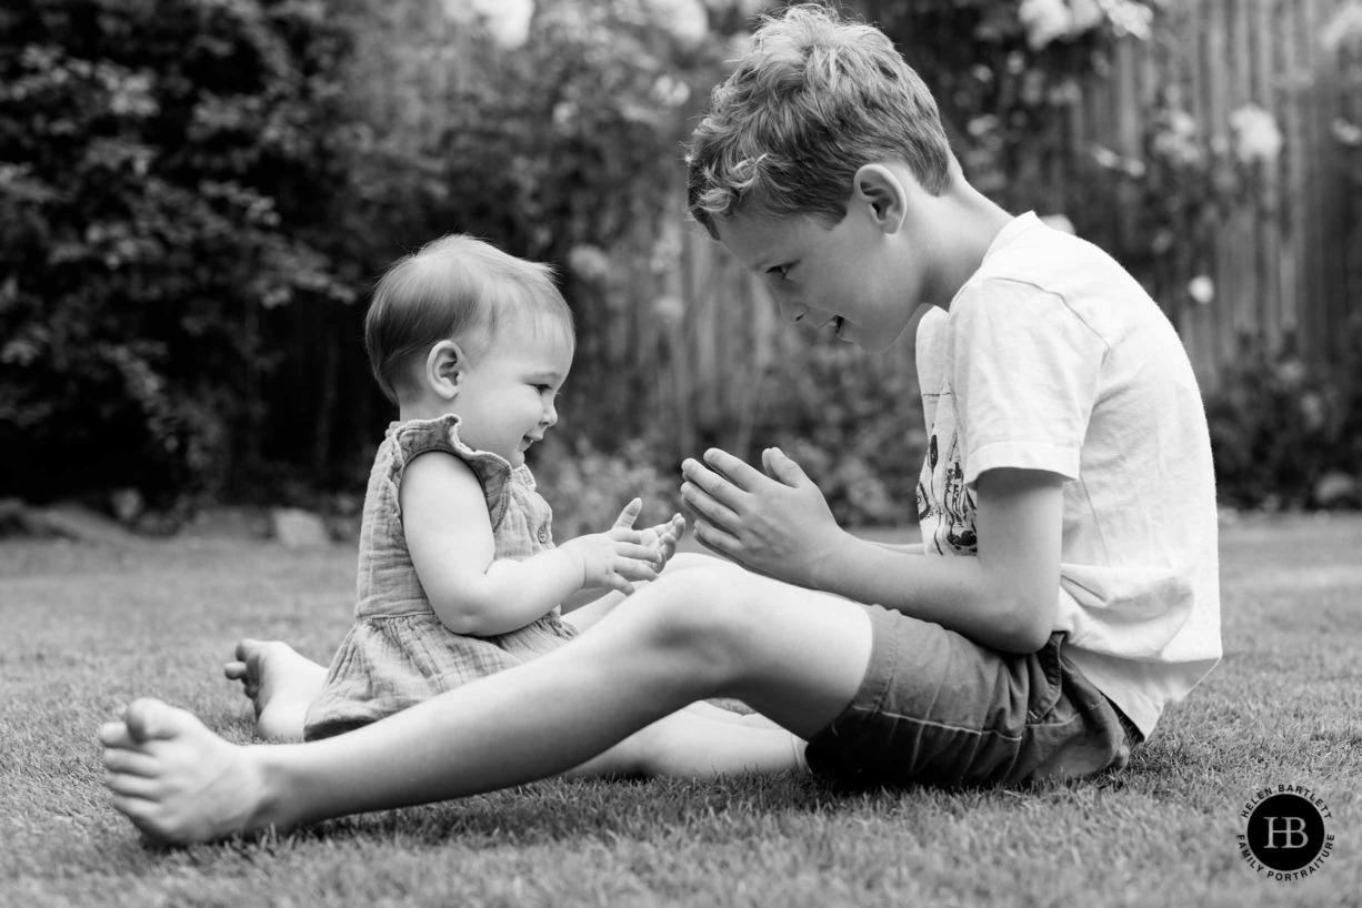
POLYGON ((715 238, 740 210, 839 223, 874 161, 903 161, 933 195, 952 167, 936 101, 893 42, 821 4, 761 25, 686 151, 686 206, 715 238))

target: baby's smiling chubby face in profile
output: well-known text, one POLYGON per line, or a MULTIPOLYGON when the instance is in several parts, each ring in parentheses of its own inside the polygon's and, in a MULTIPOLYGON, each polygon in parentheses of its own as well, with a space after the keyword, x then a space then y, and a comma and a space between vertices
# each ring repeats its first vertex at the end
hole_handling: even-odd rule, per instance
POLYGON ((572 353, 571 336, 552 319, 504 327, 459 372, 452 407, 462 419, 459 438, 512 467, 523 464, 530 445, 558 422, 554 398, 572 368, 572 353))

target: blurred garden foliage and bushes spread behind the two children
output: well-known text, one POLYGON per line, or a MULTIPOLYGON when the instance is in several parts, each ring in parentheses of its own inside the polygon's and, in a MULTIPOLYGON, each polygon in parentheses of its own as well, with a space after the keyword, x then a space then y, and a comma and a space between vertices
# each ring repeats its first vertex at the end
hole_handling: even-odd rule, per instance
MULTIPOLYGON (((460 230, 558 265, 577 313, 564 419, 535 463, 560 535, 602 525, 633 494, 661 519, 680 459, 710 444, 746 457, 779 445, 843 521, 911 523, 923 433, 910 369, 770 328, 761 291, 719 282, 731 263, 681 223, 680 144, 771 5, 10 0, 0 497, 132 489, 178 516, 353 508, 395 415, 364 361, 368 283, 460 230), (764 321, 726 327, 740 306, 764 321), (704 331, 731 346, 697 350, 704 331)), ((1163 3, 849 5, 934 87, 983 191, 1062 211, 1173 316, 1214 295, 1188 278, 1209 282, 1218 223, 1276 159, 1272 114, 1238 108, 1235 142, 1216 144, 1165 93, 1133 154, 1075 150, 1066 132, 1120 42, 1158 44, 1163 3), (1071 176, 1057 191, 1061 151, 1071 176)), ((1335 5, 1327 37, 1354 78, 1362 4, 1335 5)), ((1359 129, 1340 118, 1333 136, 1354 248, 1359 129)), ((1332 476, 1331 501, 1355 502, 1357 357, 1235 336, 1242 355, 1208 383, 1222 497, 1321 504, 1332 476)))

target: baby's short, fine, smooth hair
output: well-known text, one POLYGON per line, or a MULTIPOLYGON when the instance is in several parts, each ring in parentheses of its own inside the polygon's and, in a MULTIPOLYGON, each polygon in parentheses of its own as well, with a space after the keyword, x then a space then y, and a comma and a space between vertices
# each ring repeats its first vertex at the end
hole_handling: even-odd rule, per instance
POLYGON ((558 320, 571 343, 572 310, 552 267, 449 234, 388 267, 364 319, 364 344, 379 387, 398 403, 414 380, 413 361, 434 344, 456 339, 467 355, 478 355, 505 319, 545 314, 558 320))

